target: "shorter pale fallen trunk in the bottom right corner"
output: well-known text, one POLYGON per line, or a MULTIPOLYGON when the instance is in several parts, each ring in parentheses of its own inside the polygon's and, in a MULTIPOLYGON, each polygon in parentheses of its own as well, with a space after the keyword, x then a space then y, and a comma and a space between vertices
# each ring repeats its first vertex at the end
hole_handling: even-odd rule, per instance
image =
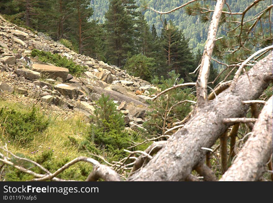
POLYGON ((253 127, 252 135, 220 181, 257 181, 262 176, 273 150, 272 102, 271 96, 253 127))

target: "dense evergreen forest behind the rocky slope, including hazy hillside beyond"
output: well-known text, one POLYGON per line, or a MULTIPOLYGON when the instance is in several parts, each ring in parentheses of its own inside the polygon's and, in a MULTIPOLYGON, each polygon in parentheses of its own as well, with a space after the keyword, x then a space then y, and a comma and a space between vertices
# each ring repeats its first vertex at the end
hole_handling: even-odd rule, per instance
MULTIPOLYGON (((189 73, 199 65, 207 37, 208 22, 212 16, 209 9, 216 3, 215 1, 195 2, 163 15, 160 19, 160 15, 149 9, 149 6, 159 11, 168 11, 186 1, 1 0, 0 2, 1 13, 11 22, 47 33, 52 39, 59 40, 80 54, 122 67, 132 75, 148 81, 151 81, 153 76, 166 78, 167 73, 173 70, 186 82, 196 79, 196 76, 189 73)), ((252 1, 228 0, 229 6, 226 5, 224 11, 232 8, 232 12, 242 12, 245 5, 250 2, 252 1)), ((267 4, 267 1, 258 2, 247 12, 245 20, 261 12, 268 6, 267 4)), ((272 16, 272 12, 270 15, 272 16)), ((234 16, 223 17, 224 21, 236 22, 234 16)), ((234 25, 227 24, 226 27, 224 24, 220 25, 218 37, 227 37, 227 30, 234 25)), ((268 27, 268 24, 261 23, 261 26, 268 27)), ((236 31, 235 29, 233 34, 231 32, 230 36, 236 36, 236 31)), ((264 33, 265 36, 269 35, 268 32, 264 33)), ((251 33, 250 35, 253 34, 251 33)), ((248 39, 252 38, 250 35, 248 39)), ((235 41, 232 37, 223 38, 215 51, 217 58, 223 58, 221 53, 228 50, 227 44, 236 43, 235 41)), ((263 41, 265 44, 270 43, 270 40, 263 41)), ((256 46, 255 41, 248 44, 249 47, 244 49, 244 53, 238 52, 238 56, 243 57, 246 52, 249 53, 249 50, 263 46, 263 44, 256 46)), ((238 56, 236 56, 237 60, 238 56)), ((223 66, 215 61, 212 62, 212 66, 214 69, 211 69, 211 81, 217 76, 216 70, 219 72, 223 69, 223 66)))

